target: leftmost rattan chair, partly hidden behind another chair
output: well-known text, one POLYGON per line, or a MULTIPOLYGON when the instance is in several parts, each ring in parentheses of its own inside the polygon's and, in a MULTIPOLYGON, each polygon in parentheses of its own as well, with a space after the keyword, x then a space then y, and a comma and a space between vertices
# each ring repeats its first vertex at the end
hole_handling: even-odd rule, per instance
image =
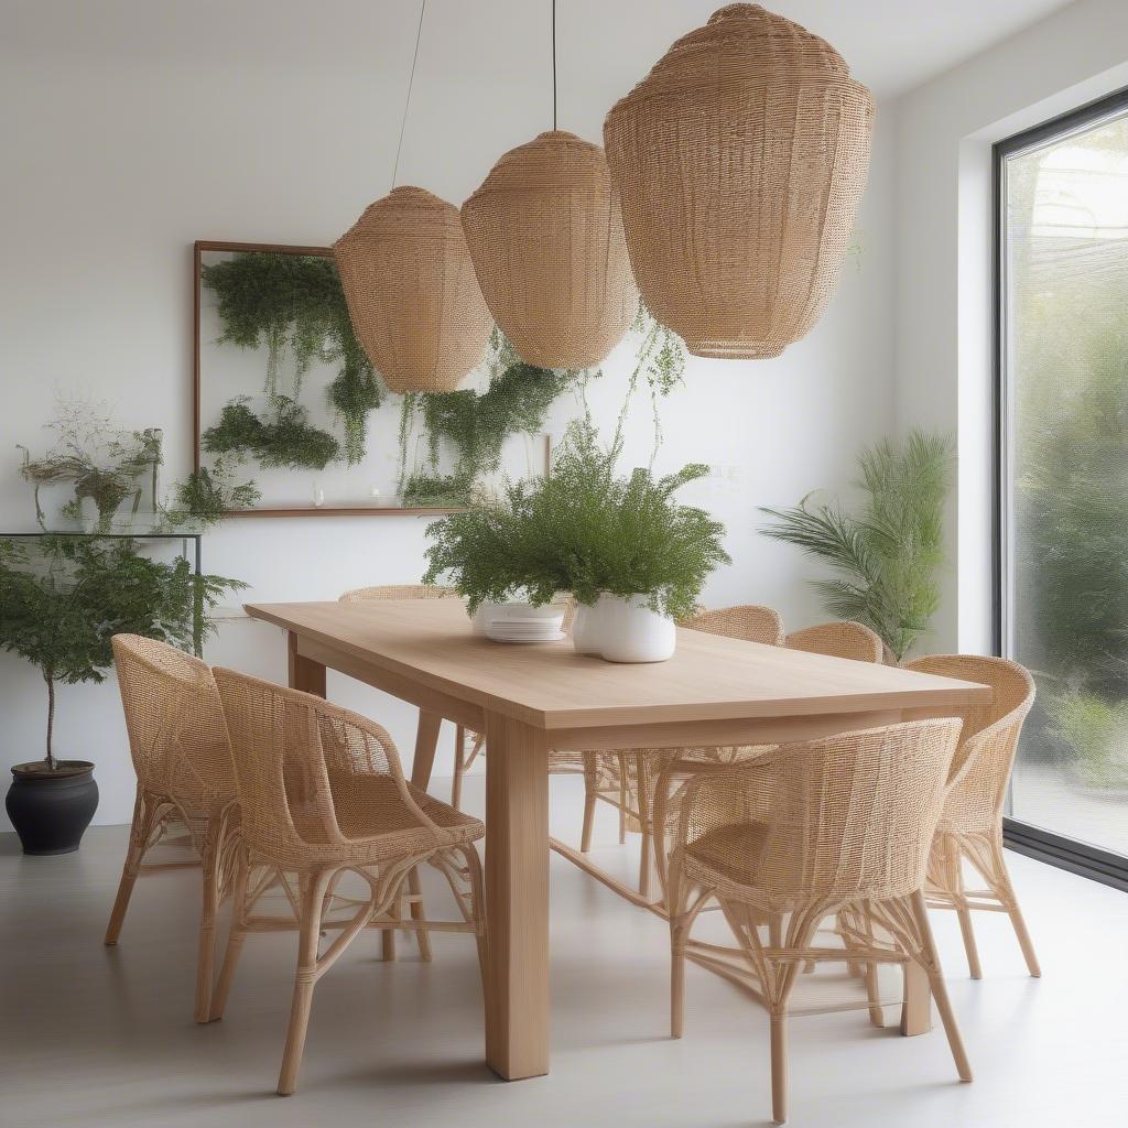
POLYGON ((211 670, 190 654, 140 635, 113 638, 117 685, 136 773, 133 822, 105 943, 117 943, 139 876, 185 866, 202 870, 195 1020, 206 1022, 215 960, 215 915, 223 898, 231 832, 238 826, 235 774, 223 711, 211 670), (146 863, 178 825, 194 855, 146 863))

